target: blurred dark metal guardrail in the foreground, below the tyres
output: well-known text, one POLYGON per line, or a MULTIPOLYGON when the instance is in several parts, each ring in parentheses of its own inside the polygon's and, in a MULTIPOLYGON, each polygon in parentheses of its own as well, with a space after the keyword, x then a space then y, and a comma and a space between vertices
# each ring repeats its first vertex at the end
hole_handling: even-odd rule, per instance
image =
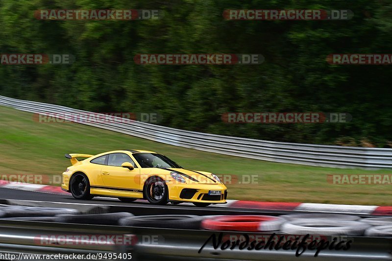
MULTIPOLYGON (((183 230, 165 228, 137 228, 104 225, 78 225, 65 223, 48 223, 35 221, 0 220, 0 253, 1 254, 96 254, 96 253, 131 253, 132 260, 314 260, 316 250, 306 250, 300 257, 295 257, 294 250, 233 250, 214 248, 212 240, 200 251, 201 246, 212 234, 218 238, 221 231, 183 230), (40 245, 40 235, 135 235, 138 238, 134 245, 40 245), (143 240, 155 238, 157 240, 143 240), (140 240, 142 239, 142 240, 140 240)), ((240 236, 241 232, 222 232, 225 236, 240 236)), ((260 233, 247 233, 249 237, 260 233)), ((263 234, 266 235, 266 234, 263 234)), ((322 250, 317 260, 392 260, 392 239, 350 237, 351 247, 348 250, 322 250)), ((18 255, 17 255, 18 256, 18 255)), ((98 259, 103 260, 103 259, 98 259)))

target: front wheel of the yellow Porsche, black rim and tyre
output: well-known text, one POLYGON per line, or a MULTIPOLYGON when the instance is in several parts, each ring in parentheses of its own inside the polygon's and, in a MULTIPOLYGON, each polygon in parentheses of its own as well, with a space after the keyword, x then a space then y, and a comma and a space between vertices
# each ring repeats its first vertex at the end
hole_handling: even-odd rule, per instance
POLYGON ((152 177, 147 180, 144 194, 148 202, 157 205, 165 205, 168 203, 168 186, 160 177, 152 177))

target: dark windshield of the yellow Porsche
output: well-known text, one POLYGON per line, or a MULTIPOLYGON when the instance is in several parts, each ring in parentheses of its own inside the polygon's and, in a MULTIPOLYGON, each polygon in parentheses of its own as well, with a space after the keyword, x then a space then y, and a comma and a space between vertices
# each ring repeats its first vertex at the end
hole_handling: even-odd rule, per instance
POLYGON ((136 161, 142 168, 176 168, 181 169, 181 166, 172 161, 170 158, 157 153, 133 153, 136 161))

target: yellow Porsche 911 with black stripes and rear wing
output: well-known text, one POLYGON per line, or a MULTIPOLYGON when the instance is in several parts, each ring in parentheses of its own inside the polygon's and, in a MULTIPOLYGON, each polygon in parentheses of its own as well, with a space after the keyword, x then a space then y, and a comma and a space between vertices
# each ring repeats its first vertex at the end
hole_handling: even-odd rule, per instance
POLYGON ((148 151, 122 150, 98 155, 65 154, 72 166, 61 188, 78 199, 118 197, 153 204, 192 202, 204 207, 226 203, 227 188, 215 174, 183 169, 168 157, 148 151))

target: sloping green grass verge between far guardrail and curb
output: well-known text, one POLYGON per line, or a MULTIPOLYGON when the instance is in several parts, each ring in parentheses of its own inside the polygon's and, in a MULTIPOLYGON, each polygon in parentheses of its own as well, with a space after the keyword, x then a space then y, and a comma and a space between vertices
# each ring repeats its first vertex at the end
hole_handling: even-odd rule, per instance
POLYGON ((75 123, 38 123, 32 113, 0 106, 0 174, 61 174, 65 153, 119 149, 163 153, 187 169, 257 175, 256 184, 226 184, 230 199, 390 205, 391 185, 333 185, 327 174, 390 174, 272 163, 184 149, 75 123))

